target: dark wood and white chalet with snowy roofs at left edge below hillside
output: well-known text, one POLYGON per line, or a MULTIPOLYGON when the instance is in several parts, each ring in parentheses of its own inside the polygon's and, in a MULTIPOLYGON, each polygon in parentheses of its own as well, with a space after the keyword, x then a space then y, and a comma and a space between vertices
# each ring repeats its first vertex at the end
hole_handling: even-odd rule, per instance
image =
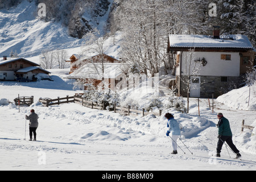
POLYGON ((34 80, 38 73, 49 74, 50 72, 39 68, 39 64, 33 63, 24 58, 11 59, 3 56, 0 60, 0 80, 16 80, 16 78, 23 77, 28 80, 34 80))

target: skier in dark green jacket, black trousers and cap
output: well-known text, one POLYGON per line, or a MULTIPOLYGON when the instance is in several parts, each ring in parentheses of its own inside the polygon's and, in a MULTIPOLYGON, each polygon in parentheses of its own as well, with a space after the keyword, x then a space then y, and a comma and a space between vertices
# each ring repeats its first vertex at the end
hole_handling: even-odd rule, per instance
POLYGON ((241 158, 240 151, 234 145, 232 141, 232 131, 230 129, 229 121, 226 119, 222 113, 217 114, 218 118, 218 143, 217 143, 217 157, 220 157, 220 152, 222 145, 224 142, 228 144, 228 146, 233 150, 233 152, 237 155, 236 159, 241 158))

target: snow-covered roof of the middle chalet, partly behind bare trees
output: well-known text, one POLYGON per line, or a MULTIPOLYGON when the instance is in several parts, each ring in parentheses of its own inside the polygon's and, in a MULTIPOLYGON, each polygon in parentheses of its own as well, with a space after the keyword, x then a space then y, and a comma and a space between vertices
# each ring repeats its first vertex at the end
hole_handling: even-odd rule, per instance
POLYGON ((101 63, 88 63, 71 73, 67 78, 116 78, 122 74, 121 63, 104 63, 104 74, 102 75, 101 63))

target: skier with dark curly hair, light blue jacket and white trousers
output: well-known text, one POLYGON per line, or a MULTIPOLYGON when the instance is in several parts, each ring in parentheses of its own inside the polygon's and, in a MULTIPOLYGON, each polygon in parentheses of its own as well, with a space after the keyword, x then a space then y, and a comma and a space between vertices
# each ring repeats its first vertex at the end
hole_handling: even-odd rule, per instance
POLYGON ((180 126, 176 119, 174 119, 174 115, 171 113, 166 113, 164 115, 168 119, 167 127, 169 128, 167 130, 167 137, 169 137, 169 134, 172 133, 172 148, 173 152, 171 154, 177 154, 177 139, 180 136, 180 126))

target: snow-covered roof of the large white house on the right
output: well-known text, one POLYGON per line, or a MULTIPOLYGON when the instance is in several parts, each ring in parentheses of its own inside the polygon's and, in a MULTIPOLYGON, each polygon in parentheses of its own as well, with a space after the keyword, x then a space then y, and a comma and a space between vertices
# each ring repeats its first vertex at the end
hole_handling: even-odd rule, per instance
POLYGON ((253 49, 247 36, 221 35, 220 39, 213 39, 207 35, 174 35, 169 36, 170 48, 232 48, 253 49))

